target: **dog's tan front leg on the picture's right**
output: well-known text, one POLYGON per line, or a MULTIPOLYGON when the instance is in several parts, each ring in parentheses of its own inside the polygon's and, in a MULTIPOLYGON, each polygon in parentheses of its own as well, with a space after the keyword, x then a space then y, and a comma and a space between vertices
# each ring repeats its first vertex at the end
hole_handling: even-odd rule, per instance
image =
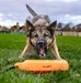
POLYGON ((60 55, 59 55, 59 52, 58 52, 58 48, 57 48, 57 43, 56 43, 56 40, 54 41, 54 43, 50 45, 50 49, 54 53, 54 55, 56 56, 57 60, 60 60, 60 55))

